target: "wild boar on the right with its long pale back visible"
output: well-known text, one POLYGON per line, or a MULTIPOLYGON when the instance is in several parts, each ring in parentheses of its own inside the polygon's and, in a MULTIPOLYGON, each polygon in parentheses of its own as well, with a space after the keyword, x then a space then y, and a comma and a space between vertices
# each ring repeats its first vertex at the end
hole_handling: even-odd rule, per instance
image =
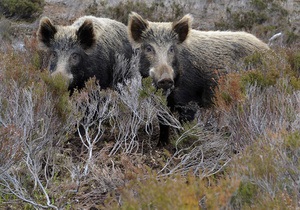
MULTIPOLYGON (((194 118, 195 110, 182 108, 190 102, 201 107, 212 104, 218 72, 269 49, 249 33, 198 31, 191 24, 190 15, 175 22, 150 22, 134 12, 128 21, 129 39, 140 50, 141 75, 152 77, 157 88, 172 90, 168 105, 182 121, 194 118)), ((169 127, 161 124, 159 145, 167 144, 168 138, 169 127)))

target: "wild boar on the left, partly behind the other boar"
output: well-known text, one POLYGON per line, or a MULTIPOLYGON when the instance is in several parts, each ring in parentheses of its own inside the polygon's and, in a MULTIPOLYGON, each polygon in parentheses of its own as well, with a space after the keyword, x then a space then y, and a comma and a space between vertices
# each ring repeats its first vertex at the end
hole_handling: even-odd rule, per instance
POLYGON ((94 76, 101 88, 112 87, 116 54, 130 59, 133 53, 127 27, 108 18, 84 16, 72 25, 60 26, 43 17, 37 37, 41 48, 50 53, 51 75, 65 76, 71 92, 94 76))

